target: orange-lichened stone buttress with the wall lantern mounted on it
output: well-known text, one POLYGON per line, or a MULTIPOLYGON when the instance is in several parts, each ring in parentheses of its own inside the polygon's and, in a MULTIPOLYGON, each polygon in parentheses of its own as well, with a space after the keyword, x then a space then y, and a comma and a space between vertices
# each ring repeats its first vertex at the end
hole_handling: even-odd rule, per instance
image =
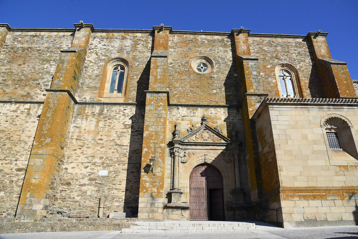
POLYGON ((138 220, 163 220, 166 123, 169 92, 169 33, 171 27, 153 27, 154 51, 151 55, 149 90, 146 91, 142 165, 138 220), (153 173, 145 171, 149 158, 155 158, 153 173))

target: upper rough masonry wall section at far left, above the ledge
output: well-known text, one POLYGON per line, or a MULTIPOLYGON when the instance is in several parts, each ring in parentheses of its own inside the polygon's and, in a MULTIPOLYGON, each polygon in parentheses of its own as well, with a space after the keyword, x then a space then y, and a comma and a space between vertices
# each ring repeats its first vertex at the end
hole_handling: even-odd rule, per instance
POLYGON ((0 99, 44 101, 72 32, 9 32, 0 53, 0 99))

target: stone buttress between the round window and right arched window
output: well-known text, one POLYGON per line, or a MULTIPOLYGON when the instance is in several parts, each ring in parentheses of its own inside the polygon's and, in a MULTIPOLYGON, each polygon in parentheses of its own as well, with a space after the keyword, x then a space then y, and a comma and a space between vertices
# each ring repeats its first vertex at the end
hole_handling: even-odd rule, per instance
POLYGON ((256 133, 254 124, 251 121, 252 115, 255 113, 262 99, 267 96, 264 94, 262 86, 258 83, 260 77, 260 68, 258 58, 251 56, 250 43, 248 40, 249 29, 232 29, 235 42, 235 55, 238 71, 238 80, 240 83, 239 97, 242 100, 241 112, 242 123, 245 131, 245 147, 246 158, 248 163, 248 175, 251 187, 250 198, 252 202, 260 199, 262 180, 260 171, 260 159, 255 151, 256 133))

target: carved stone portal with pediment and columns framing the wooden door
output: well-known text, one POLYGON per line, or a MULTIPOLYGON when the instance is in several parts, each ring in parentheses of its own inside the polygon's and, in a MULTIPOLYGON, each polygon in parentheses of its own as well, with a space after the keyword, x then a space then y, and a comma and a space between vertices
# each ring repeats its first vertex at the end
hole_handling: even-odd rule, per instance
POLYGON ((165 206, 165 209, 170 209, 170 213, 167 213, 168 219, 170 215, 180 213, 187 214, 182 220, 189 220, 189 175, 200 163, 209 163, 219 169, 224 182, 224 201, 228 204, 233 203, 232 192, 241 188, 241 144, 237 141, 235 128, 233 127, 232 139, 229 139, 222 134, 218 126, 209 126, 208 118, 204 116, 200 127, 191 125, 187 131, 188 134, 180 139, 178 124, 175 124, 174 137, 169 143, 171 188, 168 192, 168 204, 165 206))

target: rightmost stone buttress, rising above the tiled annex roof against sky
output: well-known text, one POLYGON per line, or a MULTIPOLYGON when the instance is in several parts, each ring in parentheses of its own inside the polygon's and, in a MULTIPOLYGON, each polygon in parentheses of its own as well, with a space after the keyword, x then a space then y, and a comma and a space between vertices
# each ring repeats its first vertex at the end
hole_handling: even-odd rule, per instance
POLYGON ((332 59, 324 32, 309 32, 313 57, 325 98, 357 97, 347 63, 332 59))

